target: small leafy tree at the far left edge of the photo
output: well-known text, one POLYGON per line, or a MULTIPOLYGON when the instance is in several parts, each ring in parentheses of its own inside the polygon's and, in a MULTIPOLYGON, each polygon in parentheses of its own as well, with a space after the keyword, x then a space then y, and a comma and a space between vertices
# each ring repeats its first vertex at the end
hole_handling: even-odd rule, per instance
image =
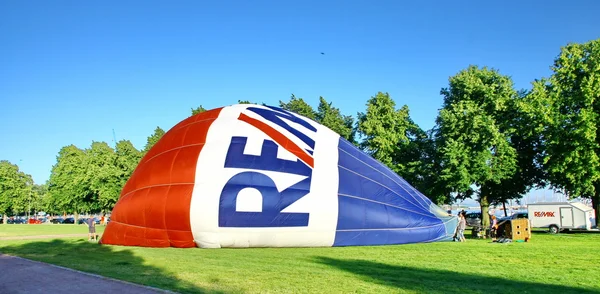
POLYGON ((7 223, 7 214, 25 211, 28 197, 33 187, 30 175, 7 160, 0 161, 0 214, 3 224, 7 223))

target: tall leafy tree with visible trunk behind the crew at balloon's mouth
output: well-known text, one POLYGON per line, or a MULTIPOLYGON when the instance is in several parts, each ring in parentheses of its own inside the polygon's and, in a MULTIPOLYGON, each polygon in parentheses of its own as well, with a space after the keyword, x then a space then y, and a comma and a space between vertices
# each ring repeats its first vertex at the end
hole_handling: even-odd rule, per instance
POLYGON ((516 171, 517 153, 510 142, 507 114, 517 92, 510 77, 487 67, 469 66, 449 79, 440 92, 443 108, 436 119, 440 177, 447 188, 468 196, 476 191, 482 223, 489 225, 490 202, 502 180, 516 171))

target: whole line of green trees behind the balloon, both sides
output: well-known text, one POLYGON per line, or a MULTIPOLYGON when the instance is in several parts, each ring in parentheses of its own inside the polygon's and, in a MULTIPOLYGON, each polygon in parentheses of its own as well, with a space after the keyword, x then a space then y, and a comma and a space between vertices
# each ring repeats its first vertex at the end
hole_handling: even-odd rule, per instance
MULTIPOLYGON (((397 107, 383 92, 356 117, 323 97, 316 110, 294 95, 279 106, 331 128, 435 203, 473 197, 487 211, 533 188, 551 187, 591 198, 598 218, 600 39, 561 48, 551 69, 550 77, 533 81, 528 90, 515 89, 511 77, 496 69, 461 70, 441 89, 442 108, 431 130, 421 129, 407 105, 397 107)), ((191 109, 192 115, 203 111, 191 109)), ((127 140, 114 149, 105 142, 66 146, 44 185, 1 161, 0 214, 23 212, 26 203, 50 213, 108 212, 164 133, 157 127, 142 150, 127 140)))

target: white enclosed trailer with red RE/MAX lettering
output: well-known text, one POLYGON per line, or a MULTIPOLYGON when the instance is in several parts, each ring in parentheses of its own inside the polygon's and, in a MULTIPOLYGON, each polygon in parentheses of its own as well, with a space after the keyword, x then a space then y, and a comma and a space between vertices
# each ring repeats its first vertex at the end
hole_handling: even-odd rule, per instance
POLYGON ((564 229, 596 230, 594 209, 580 202, 539 202, 527 205, 532 228, 548 228, 556 234, 564 229))

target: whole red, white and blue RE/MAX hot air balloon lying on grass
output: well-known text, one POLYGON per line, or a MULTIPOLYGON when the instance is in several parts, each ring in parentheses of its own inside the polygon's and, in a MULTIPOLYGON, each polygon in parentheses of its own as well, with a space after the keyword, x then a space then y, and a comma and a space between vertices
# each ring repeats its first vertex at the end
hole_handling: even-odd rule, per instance
POLYGON ((327 127, 239 104, 170 129, 121 192, 102 244, 312 247, 433 242, 456 218, 327 127))

